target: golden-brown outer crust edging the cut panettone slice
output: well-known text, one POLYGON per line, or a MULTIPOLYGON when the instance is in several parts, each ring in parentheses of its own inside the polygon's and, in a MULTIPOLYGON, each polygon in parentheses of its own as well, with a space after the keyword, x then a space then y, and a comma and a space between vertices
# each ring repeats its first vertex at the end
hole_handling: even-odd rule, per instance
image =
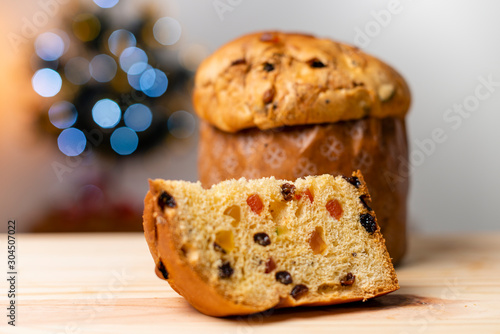
MULTIPOLYGON (((362 175, 359 172, 353 173, 361 181, 359 189, 368 198, 368 190, 362 175)), ((144 233, 151 254, 155 261, 156 275, 169 282, 172 288, 182 295, 186 300, 200 312, 216 317, 244 315, 265 311, 271 307, 282 308, 291 306, 319 306, 347 303, 353 301, 366 300, 368 298, 387 294, 399 289, 396 273, 391 260, 384 246, 384 239, 377 225, 377 230, 373 233, 379 242, 380 247, 387 260, 385 267, 389 272, 391 284, 388 284, 378 291, 372 291, 364 296, 353 298, 326 297, 324 300, 308 302, 307 299, 295 300, 291 296, 281 297, 275 305, 250 306, 236 304, 224 298, 214 287, 210 286, 181 256, 179 245, 177 245, 175 219, 171 215, 161 214, 156 208, 155 201, 159 194, 154 182, 150 181, 150 191, 147 193, 144 205, 144 233), (160 219, 158 219, 160 217, 160 219), (160 270, 161 266, 165 270, 160 270), (162 272, 163 271, 163 272, 162 272), (165 277, 164 272, 168 273, 165 277)), ((376 217, 375 217, 376 219, 376 217)))

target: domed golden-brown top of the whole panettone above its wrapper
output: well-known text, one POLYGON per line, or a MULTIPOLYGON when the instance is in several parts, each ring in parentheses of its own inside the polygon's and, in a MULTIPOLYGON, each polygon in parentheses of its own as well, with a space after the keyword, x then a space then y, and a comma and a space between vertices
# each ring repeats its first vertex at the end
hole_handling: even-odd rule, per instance
POLYGON ((282 32, 222 46, 199 67, 198 115, 228 132, 404 117, 410 92, 390 66, 357 48, 282 32))

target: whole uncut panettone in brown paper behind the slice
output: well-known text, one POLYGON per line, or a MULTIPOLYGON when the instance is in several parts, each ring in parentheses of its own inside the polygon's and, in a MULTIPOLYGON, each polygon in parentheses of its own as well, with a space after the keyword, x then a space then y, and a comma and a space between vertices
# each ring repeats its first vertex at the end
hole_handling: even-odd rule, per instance
POLYGON ((406 249, 410 101, 401 75, 356 47, 298 33, 242 36, 196 73, 200 181, 360 169, 398 263, 406 249))

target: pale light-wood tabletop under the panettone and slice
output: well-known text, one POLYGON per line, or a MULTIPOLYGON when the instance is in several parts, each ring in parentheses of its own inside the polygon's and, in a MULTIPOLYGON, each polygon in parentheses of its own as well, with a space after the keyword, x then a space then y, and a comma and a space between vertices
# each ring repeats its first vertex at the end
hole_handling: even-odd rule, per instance
POLYGON ((365 303, 229 319, 156 278, 141 234, 17 235, 17 246, 17 326, 2 315, 0 333, 500 333, 500 233, 413 237, 401 289, 365 303))

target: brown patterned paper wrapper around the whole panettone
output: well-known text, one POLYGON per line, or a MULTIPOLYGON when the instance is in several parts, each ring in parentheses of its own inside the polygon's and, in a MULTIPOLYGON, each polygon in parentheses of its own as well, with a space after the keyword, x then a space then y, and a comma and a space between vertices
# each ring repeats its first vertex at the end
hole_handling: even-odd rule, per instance
POLYGON ((361 170, 372 207, 397 263, 406 249, 408 148, 402 118, 364 118, 321 125, 227 133, 200 127, 199 178, 205 187, 231 178, 351 175, 361 170))

